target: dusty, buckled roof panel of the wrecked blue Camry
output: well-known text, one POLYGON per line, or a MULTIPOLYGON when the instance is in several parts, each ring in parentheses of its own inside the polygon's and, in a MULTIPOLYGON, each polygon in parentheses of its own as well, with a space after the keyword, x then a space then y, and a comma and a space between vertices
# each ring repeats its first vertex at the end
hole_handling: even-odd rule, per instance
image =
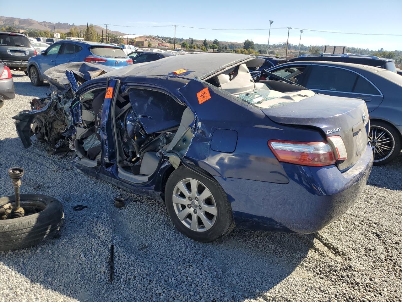
POLYGON ((127 76, 163 76, 171 75, 174 71, 185 69, 179 74, 186 79, 206 79, 215 73, 233 65, 249 62, 250 65, 260 66, 264 60, 255 56, 228 53, 199 53, 168 56, 163 60, 133 64, 124 68, 107 72, 99 77, 127 76), (252 62, 250 62, 252 61, 252 62), (207 64, 206 64, 207 63, 207 64))

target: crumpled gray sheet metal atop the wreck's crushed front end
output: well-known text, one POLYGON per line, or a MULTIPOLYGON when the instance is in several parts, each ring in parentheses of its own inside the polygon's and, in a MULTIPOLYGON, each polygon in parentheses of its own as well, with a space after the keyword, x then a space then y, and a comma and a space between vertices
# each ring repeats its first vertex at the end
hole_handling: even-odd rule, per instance
POLYGON ((72 62, 49 68, 44 74, 46 81, 50 84, 51 91, 63 94, 70 88, 75 92, 82 83, 112 70, 115 70, 115 68, 101 64, 72 62), (70 74, 74 76, 74 79, 68 77, 68 71, 71 72, 70 74))

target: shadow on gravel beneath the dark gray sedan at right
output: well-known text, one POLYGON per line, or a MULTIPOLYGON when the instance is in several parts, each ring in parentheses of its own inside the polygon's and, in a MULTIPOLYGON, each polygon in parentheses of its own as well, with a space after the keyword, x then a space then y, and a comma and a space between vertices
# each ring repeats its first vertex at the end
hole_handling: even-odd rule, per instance
POLYGON ((367 184, 389 190, 402 190, 401 173, 402 152, 386 165, 373 166, 367 184))

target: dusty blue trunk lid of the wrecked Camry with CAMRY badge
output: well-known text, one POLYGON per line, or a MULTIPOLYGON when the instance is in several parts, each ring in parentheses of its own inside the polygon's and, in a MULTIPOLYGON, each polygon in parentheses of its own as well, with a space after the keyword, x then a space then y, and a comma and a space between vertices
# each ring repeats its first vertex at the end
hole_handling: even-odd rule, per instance
POLYGON ((347 151, 347 159, 338 161, 339 170, 354 165, 367 147, 367 106, 358 99, 316 94, 298 102, 281 103, 262 109, 279 124, 319 128, 324 136, 339 135, 347 151))

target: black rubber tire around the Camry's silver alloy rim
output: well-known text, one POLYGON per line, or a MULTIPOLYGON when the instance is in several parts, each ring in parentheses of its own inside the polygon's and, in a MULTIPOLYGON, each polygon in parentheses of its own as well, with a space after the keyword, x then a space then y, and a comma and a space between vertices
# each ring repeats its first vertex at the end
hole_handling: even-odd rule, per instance
MULTIPOLYGON (((185 199, 185 200, 187 202, 187 199, 185 199)), ((211 241, 217 240, 218 238, 221 238, 222 236, 229 234, 234 228, 232 208, 230 207, 230 203, 228 201, 228 196, 226 195, 226 193, 222 189, 222 187, 219 185, 219 183, 216 182, 215 180, 211 180, 205 176, 202 176, 202 175, 186 168, 183 165, 180 166, 178 169, 176 169, 169 176, 168 181, 166 182, 165 203, 166 203, 166 209, 167 209, 174 225, 176 226, 176 228, 181 233, 183 233, 184 235, 186 235, 187 237, 189 237, 193 240, 200 241, 200 242, 211 242, 211 241), (189 179, 189 178, 197 180, 198 182, 200 182, 200 184, 202 183, 202 185, 204 185, 205 188, 207 188, 211 192, 211 196, 214 199, 213 204, 216 207, 216 215, 215 215, 216 217, 215 217, 215 220, 214 220, 211 228, 204 230, 204 231, 197 232, 197 231, 191 230, 189 227, 187 227, 179 219, 178 214, 176 214, 176 211, 174 208, 176 204, 173 203, 173 193, 174 193, 174 190, 176 190, 176 185, 179 182, 181 182, 182 180, 189 179)), ((189 201, 189 205, 190 205, 190 201, 189 201)), ((187 205, 187 206, 189 206, 189 205, 187 205)), ((199 204, 199 206, 201 206, 201 203, 199 204)), ((183 205, 181 207, 186 208, 185 205, 183 205)), ((189 208, 189 211, 194 211, 194 210, 203 212, 204 215, 206 214, 205 211, 197 209, 197 206, 194 209, 189 208)), ((197 211, 196 211, 196 213, 197 213, 197 211)), ((191 215, 191 217, 194 217, 192 213, 190 213, 189 215, 191 215)), ((202 223, 201 223, 201 225, 202 225, 202 223)))

